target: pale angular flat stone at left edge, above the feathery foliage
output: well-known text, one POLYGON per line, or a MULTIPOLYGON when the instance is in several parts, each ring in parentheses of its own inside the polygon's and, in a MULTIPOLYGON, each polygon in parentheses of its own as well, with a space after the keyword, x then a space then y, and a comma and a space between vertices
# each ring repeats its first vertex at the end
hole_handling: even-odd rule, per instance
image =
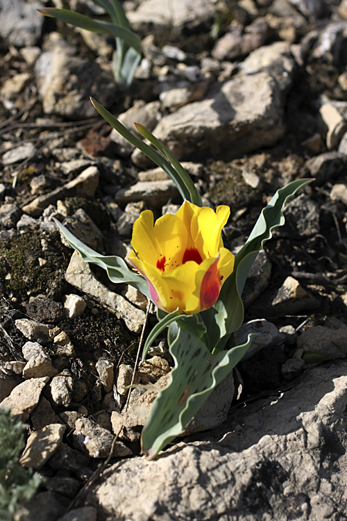
POLYGON ((32 378, 31 380, 19 383, 19 385, 12 390, 10 396, 3 399, 0 406, 7 409, 11 408, 12 415, 21 415, 22 421, 25 422, 37 406, 42 389, 46 386, 48 381, 49 377, 43 377, 32 378))

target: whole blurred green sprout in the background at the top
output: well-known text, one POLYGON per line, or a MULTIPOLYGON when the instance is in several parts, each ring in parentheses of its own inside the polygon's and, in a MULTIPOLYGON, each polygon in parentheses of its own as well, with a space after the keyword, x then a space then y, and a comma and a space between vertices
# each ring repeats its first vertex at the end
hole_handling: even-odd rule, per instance
POLYGON ((130 30, 130 24, 119 0, 93 0, 110 16, 112 22, 96 20, 68 9, 41 8, 42 15, 58 18, 67 24, 81 27, 93 33, 113 36, 116 51, 112 57, 113 74, 119 88, 126 90, 133 83, 134 74, 141 60, 141 40, 130 30))

